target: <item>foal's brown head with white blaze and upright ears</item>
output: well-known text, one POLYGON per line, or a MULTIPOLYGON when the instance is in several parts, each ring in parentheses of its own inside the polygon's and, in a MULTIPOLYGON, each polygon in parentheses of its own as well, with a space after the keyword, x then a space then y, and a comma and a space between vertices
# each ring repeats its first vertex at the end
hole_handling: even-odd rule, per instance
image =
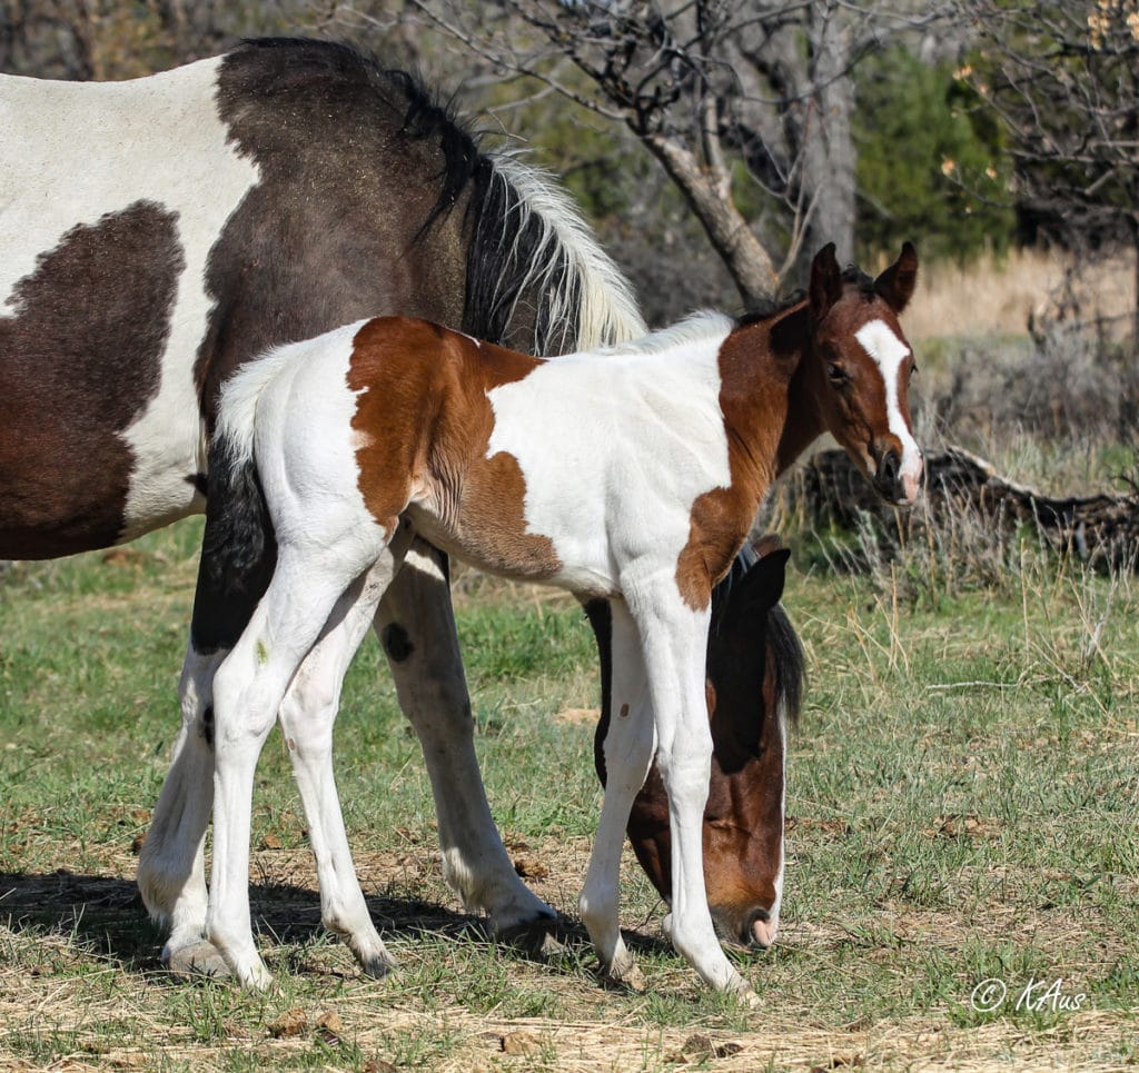
POLYGON ((913 352, 898 317, 917 282, 917 251, 906 243, 877 279, 845 272, 825 246, 811 265, 810 353, 826 429, 890 502, 912 503, 921 483, 921 451, 910 426, 913 352))

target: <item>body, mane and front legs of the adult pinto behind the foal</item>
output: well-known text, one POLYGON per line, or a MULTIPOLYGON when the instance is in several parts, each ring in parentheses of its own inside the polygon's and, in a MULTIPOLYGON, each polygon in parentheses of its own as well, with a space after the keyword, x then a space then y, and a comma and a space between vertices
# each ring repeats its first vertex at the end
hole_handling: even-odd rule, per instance
MULTIPOLYGON (((644 330, 552 183, 481 151, 405 74, 323 42, 249 42, 123 83, 0 76, 0 558, 101 548, 205 509, 219 385, 267 346, 385 310, 538 353, 644 330)), ((261 593, 222 599, 207 579, 138 882, 170 928, 165 958, 208 970, 212 678, 261 593)), ((448 880, 497 928, 549 915, 483 793, 442 555, 417 544, 376 626, 448 880)), ((305 665, 286 732, 335 704, 336 681, 305 665)))

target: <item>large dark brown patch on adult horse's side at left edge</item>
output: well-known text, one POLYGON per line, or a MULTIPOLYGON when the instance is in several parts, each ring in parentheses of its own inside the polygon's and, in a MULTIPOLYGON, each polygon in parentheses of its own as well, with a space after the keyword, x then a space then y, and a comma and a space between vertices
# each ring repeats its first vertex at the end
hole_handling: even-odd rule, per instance
POLYGON ((158 393, 185 257, 177 214, 136 202, 42 254, 0 317, 0 557, 115 543, 158 393))

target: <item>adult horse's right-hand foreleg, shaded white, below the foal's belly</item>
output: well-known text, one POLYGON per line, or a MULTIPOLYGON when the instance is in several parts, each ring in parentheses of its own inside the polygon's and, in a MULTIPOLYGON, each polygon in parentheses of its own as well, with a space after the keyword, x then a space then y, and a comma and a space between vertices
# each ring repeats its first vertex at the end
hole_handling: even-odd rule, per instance
POLYGON ((412 544, 379 605, 376 632, 423 747, 446 882, 497 933, 551 919, 554 910, 518 878, 486 802, 443 552, 412 544))

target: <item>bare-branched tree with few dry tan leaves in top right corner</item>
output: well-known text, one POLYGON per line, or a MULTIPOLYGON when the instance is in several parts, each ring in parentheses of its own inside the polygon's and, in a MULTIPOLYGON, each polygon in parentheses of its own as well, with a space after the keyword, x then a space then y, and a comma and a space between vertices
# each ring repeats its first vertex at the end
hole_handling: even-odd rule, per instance
POLYGON ((959 0, 980 54, 961 71, 1007 129, 1017 198, 1076 251, 1136 253, 1139 0, 959 0))

